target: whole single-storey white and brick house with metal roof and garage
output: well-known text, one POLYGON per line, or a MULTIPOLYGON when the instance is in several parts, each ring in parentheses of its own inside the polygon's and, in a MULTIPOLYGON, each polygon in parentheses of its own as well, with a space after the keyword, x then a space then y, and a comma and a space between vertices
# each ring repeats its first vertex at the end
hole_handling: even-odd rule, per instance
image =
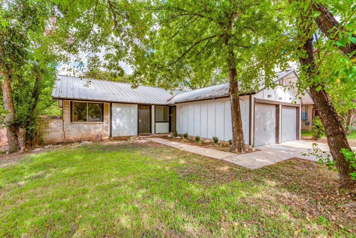
MULTIPOLYGON (((246 145, 267 145, 300 139, 300 100, 296 71, 279 72, 274 89, 240 94, 246 145), (292 103, 296 101, 297 103, 292 103)), ((52 98, 63 107, 60 120, 42 120, 44 143, 127 138, 151 133, 179 134, 202 139, 232 139, 229 83, 172 93, 158 87, 58 75, 52 98)))

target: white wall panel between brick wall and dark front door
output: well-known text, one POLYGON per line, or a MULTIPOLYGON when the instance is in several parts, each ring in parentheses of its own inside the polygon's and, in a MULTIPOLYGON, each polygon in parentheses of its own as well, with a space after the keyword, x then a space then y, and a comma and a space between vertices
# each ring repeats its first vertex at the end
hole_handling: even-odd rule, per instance
POLYGON ((137 109, 137 104, 112 103, 112 137, 137 135, 137 109))

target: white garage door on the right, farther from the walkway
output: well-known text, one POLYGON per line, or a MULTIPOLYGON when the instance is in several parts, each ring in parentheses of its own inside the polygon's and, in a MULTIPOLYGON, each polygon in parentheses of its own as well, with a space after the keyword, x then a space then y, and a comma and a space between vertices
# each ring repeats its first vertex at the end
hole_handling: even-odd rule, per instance
POLYGON ((281 141, 297 139, 297 108, 282 106, 282 138, 281 141))

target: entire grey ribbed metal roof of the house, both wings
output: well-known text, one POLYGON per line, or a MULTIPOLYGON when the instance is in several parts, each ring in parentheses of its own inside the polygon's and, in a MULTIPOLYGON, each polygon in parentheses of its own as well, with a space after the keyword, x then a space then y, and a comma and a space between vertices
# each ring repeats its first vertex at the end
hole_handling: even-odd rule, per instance
MULTIPOLYGON (((297 75, 297 72, 294 69, 278 72, 273 81, 277 82, 279 79, 282 79, 293 72, 297 75)), ((58 81, 56 81, 56 85, 52 91, 52 97, 56 99, 83 99, 171 105, 178 102, 198 101, 214 97, 229 96, 229 83, 222 83, 185 92, 176 90, 171 93, 159 87, 138 86, 137 88, 131 88, 132 85, 129 83, 81 79, 80 77, 64 75, 58 75, 57 78, 58 81), (90 80, 90 83, 88 83, 88 80, 90 80)), ((265 88, 263 79, 259 82, 258 88, 258 92, 265 88)))

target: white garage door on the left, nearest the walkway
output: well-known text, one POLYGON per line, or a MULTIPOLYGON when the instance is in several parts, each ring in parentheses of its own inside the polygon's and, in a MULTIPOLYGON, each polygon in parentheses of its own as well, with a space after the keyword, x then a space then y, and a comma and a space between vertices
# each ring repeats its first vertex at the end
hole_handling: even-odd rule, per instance
POLYGON ((255 146, 276 143, 276 105, 256 103, 255 146))

